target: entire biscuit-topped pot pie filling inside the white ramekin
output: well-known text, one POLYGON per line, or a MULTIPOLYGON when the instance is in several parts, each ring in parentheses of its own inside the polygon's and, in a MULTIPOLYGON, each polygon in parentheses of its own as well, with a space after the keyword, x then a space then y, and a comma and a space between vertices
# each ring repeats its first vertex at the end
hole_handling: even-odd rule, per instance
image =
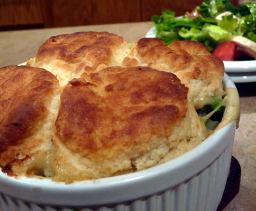
POLYGON ((217 129, 237 119, 238 95, 223 90, 223 74, 223 62, 193 41, 53 36, 25 66, 0 69, 2 171, 72 183, 176 158, 213 132, 197 113, 213 96, 226 106, 217 129))

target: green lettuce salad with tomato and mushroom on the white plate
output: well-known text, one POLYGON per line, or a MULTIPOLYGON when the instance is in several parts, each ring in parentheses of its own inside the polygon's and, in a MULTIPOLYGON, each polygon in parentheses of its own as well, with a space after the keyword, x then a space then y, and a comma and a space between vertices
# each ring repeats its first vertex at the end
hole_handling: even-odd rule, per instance
POLYGON ((228 0, 204 0, 191 13, 179 18, 175 12, 162 11, 152 16, 156 36, 168 45, 176 40, 193 40, 208 46, 225 61, 256 59, 256 3, 233 6, 228 0))

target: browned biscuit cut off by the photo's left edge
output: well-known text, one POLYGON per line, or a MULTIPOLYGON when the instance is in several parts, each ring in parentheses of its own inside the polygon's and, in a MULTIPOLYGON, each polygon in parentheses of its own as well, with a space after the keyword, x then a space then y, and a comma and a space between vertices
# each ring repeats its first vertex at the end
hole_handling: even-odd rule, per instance
POLYGON ((4 172, 27 172, 35 155, 51 149, 58 89, 58 80, 46 70, 0 69, 0 166, 4 172))

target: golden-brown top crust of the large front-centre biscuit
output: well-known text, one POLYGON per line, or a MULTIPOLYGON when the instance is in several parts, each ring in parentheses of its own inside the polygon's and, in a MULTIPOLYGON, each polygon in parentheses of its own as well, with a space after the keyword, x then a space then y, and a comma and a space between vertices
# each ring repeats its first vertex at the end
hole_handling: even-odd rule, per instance
POLYGON ((187 91, 174 74, 147 67, 107 68, 74 79, 61 94, 56 135, 82 156, 142 143, 147 148, 150 137, 169 136, 185 117, 187 91))

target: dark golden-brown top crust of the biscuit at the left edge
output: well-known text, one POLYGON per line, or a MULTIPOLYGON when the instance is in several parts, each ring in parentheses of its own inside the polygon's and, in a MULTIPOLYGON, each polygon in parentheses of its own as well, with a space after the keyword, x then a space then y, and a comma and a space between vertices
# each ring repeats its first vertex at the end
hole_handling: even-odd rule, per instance
POLYGON ((40 68, 0 69, 0 152, 32 135, 35 124, 47 113, 45 97, 57 84, 54 75, 40 68))

